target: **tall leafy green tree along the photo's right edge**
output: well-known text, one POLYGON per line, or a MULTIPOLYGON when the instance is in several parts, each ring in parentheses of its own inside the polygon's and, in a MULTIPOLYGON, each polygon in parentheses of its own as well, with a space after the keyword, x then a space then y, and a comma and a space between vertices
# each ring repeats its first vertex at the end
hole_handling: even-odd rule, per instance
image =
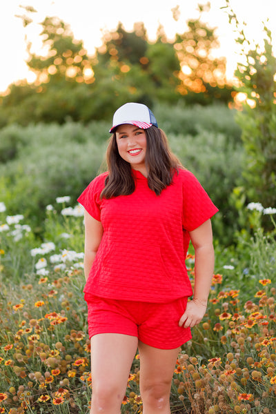
POLYGON ((250 44, 243 26, 227 0, 229 20, 238 31, 237 43, 242 46, 243 62, 235 75, 240 81, 237 88, 245 92, 248 101, 237 116, 242 128, 246 151, 242 185, 250 201, 264 206, 276 204, 276 57, 273 56, 270 30, 264 25, 264 44, 250 44))

